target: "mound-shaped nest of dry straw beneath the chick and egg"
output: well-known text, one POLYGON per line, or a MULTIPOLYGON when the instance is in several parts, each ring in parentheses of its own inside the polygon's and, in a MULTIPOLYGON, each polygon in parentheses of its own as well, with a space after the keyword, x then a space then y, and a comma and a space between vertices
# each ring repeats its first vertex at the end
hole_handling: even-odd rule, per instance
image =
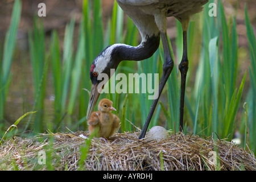
POLYGON ((179 133, 147 142, 137 132, 109 140, 81 134, 89 137, 77 131, 10 138, 0 146, 0 170, 256 170, 254 154, 226 140, 179 133))

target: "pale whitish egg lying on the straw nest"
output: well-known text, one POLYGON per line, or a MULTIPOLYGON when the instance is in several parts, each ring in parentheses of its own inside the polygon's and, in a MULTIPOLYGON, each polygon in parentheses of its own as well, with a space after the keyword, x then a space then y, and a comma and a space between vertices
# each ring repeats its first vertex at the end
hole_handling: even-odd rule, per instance
POLYGON ((148 142, 151 140, 156 140, 159 142, 160 140, 167 139, 168 135, 168 131, 164 127, 154 126, 148 131, 146 140, 148 142))

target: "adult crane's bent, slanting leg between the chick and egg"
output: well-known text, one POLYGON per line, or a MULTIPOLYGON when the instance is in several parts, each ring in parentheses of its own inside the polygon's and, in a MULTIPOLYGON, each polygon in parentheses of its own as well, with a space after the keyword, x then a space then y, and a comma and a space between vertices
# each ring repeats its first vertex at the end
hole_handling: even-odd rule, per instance
POLYGON ((164 49, 164 64, 163 64, 163 75, 160 79, 160 83, 158 86, 158 97, 155 98, 155 100, 152 102, 152 105, 150 107, 150 111, 147 115, 146 122, 143 126, 143 129, 141 131, 141 134, 139 135, 138 139, 142 139, 146 135, 146 131, 148 128, 148 125, 151 121, 152 115, 154 114, 156 104, 158 103, 159 97, 163 91, 164 85, 166 85, 166 82, 168 80, 168 77, 170 76, 172 72, 172 68, 174 68, 174 61, 171 57, 170 47, 168 44, 168 37, 166 32, 160 32, 162 43, 163 43, 163 49, 164 49))

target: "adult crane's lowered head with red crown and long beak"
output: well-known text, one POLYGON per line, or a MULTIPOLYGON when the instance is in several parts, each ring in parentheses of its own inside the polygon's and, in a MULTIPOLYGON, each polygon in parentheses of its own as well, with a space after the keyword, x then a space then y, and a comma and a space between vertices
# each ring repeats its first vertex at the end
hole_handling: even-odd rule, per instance
POLYGON ((90 117, 90 114, 98 101, 98 97, 100 96, 104 85, 113 75, 120 62, 113 51, 114 48, 115 46, 105 48, 104 51, 102 51, 93 60, 92 66, 90 67, 90 80, 92 81, 92 88, 90 91, 89 105, 86 114, 87 119, 90 117))

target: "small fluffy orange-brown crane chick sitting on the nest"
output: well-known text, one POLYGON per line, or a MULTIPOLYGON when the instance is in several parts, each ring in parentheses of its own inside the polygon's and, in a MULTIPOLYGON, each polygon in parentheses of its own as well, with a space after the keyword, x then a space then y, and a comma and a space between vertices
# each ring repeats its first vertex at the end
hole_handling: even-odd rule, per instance
POLYGON ((89 133, 92 134, 95 129, 99 129, 96 137, 109 139, 119 127, 120 119, 113 113, 115 110, 113 102, 104 98, 98 104, 98 110, 90 114, 87 121, 89 133))

